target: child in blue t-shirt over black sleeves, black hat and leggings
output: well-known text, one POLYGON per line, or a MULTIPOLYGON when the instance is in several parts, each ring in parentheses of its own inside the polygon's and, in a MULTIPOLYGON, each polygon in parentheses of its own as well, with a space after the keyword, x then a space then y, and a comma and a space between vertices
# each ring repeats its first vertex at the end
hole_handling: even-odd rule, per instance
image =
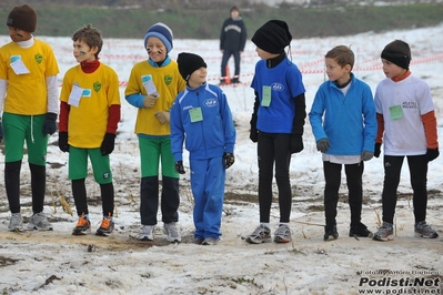
POLYGON ((251 40, 261 59, 255 64, 251 82, 255 101, 250 132, 251 141, 258 143, 260 225, 246 237, 246 242, 271 242, 272 177, 275 167, 280 222, 274 242, 289 243, 292 241, 289 167, 291 155, 303 150, 305 89, 299 68, 284 52, 286 47, 291 52, 292 40, 286 22, 270 20, 255 31, 251 40))

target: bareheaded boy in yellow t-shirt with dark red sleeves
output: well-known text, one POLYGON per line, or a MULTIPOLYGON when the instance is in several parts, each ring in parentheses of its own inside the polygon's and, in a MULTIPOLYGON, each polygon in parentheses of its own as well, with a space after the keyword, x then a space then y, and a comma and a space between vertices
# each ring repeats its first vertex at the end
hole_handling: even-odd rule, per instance
POLYGON ((79 221, 72 231, 90 231, 87 190, 88 156, 100 184, 103 218, 97 235, 114 228, 114 187, 109 154, 114 150, 120 121, 119 79, 114 70, 99 61, 103 45, 101 32, 91 24, 72 34, 73 55, 80 63, 63 78, 60 95, 59 148, 69 152, 69 179, 79 221))

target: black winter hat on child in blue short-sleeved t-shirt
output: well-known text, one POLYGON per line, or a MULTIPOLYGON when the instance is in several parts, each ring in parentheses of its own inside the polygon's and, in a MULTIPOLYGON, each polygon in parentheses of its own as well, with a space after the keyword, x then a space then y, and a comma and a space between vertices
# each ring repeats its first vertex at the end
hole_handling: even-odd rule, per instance
POLYGON ((260 27, 251 41, 269 53, 281 53, 291 43, 292 34, 288 23, 282 20, 270 20, 260 27))

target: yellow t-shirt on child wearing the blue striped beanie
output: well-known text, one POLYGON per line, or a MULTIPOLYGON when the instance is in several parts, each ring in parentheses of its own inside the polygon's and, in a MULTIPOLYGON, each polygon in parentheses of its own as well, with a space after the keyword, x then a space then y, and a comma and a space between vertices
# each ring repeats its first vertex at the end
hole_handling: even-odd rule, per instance
POLYGON ((137 114, 135 133, 148 135, 170 135, 171 130, 168 124, 160 124, 155 118, 155 112, 169 112, 177 94, 187 87, 185 81, 180 75, 179 68, 175 61, 165 67, 154 68, 148 61, 135 63, 131 70, 131 75, 128 81, 128 87, 124 95, 142 94, 148 95, 143 87, 142 77, 151 75, 160 98, 157 100, 153 108, 140 108, 137 114))

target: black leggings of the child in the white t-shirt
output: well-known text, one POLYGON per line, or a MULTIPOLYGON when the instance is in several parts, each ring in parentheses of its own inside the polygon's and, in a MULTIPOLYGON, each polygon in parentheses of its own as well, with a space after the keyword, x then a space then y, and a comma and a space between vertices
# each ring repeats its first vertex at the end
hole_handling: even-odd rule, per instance
MULTIPOLYGON (((407 155, 407 165, 410 169, 411 186, 413 191, 413 205, 415 223, 426 220, 427 206, 427 161, 425 155, 407 155)), ((400 173, 404 156, 385 155, 384 164, 384 184, 382 194, 383 221, 394 223, 396 189, 400 183, 400 173)))

